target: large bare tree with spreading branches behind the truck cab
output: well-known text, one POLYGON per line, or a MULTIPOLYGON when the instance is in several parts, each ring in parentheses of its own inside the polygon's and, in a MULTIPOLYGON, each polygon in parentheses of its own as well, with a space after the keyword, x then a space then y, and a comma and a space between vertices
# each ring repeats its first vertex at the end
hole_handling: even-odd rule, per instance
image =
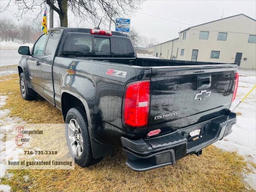
POLYGON ((140 8, 143 0, 9 0, 5 7, 1 7, 1 12, 8 9, 12 4, 18 6, 15 16, 19 19, 24 14, 36 12, 37 17, 42 14, 44 6, 47 4, 52 10, 58 13, 60 26, 68 26, 68 9, 76 18, 97 24, 102 18, 102 22, 112 20, 115 17, 131 16, 140 8))

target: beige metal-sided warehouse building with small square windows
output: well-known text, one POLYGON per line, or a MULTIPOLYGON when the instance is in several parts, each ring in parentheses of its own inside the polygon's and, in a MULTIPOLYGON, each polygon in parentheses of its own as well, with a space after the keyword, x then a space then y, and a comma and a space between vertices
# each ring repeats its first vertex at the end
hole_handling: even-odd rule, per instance
POLYGON ((256 69, 256 20, 239 14, 182 30, 179 38, 154 46, 164 59, 238 63, 256 69))

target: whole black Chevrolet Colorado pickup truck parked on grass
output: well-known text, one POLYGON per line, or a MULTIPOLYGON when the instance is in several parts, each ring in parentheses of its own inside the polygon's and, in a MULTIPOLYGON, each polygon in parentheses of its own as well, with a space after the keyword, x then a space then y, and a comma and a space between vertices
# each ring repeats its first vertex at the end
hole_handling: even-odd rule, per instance
POLYGON ((62 111, 75 162, 122 146, 127 166, 173 165, 232 132, 237 64, 137 58, 125 33, 53 28, 18 51, 20 90, 62 111))

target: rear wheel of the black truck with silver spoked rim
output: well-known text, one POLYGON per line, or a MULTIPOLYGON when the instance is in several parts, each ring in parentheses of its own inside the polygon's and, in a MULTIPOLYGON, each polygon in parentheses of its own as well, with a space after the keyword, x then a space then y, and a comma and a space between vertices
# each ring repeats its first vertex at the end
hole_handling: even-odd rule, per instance
POLYGON ((100 162, 102 158, 94 159, 92 156, 88 121, 85 113, 78 107, 71 108, 67 113, 65 123, 68 149, 72 156, 74 155, 76 164, 87 167, 100 162))

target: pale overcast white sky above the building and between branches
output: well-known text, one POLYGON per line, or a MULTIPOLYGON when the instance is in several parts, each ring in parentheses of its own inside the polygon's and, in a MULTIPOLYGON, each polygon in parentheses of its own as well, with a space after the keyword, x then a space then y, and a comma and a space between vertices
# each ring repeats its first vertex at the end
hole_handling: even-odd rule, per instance
MULTIPOLYGON (((6 2, 6 0, 1 0, 0 6, 4 6, 6 2)), ((0 16, 14 18, 13 14, 16 11, 16 7, 10 7, 8 11, 2 12, 0 16)), ((222 17, 222 14, 223 18, 225 18, 241 13, 256 19, 256 0, 146 0, 142 3, 141 9, 131 17, 131 27, 142 36, 156 38, 158 42, 165 42, 177 38, 180 30, 218 20, 222 17)), ((31 18, 31 16, 29 17, 31 18)), ((73 18, 74 16, 69 13, 69 25, 74 27, 76 23, 73 18)), ((54 19, 54 26, 57 26, 57 14, 54 15, 54 19)), ((84 22, 81 24, 84 27, 93 27, 92 24, 84 22)), ((103 28, 108 29, 107 26, 103 26, 103 28)), ((114 30, 113 24, 112 30, 114 30)))

